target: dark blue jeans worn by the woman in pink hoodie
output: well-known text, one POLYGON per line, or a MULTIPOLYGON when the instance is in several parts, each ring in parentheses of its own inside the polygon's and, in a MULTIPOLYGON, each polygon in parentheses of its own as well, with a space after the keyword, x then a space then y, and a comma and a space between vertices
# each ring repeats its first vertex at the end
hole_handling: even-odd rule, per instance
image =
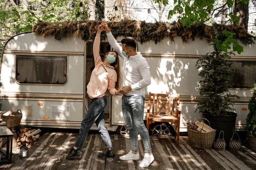
POLYGON ((79 135, 76 140, 75 147, 79 149, 83 147, 87 134, 95 122, 99 129, 99 133, 105 142, 106 148, 111 148, 112 143, 105 124, 104 116, 104 108, 107 105, 107 97, 103 96, 100 98, 91 99, 90 104, 90 108, 88 109, 83 121, 81 122, 81 128, 79 130, 79 135))

